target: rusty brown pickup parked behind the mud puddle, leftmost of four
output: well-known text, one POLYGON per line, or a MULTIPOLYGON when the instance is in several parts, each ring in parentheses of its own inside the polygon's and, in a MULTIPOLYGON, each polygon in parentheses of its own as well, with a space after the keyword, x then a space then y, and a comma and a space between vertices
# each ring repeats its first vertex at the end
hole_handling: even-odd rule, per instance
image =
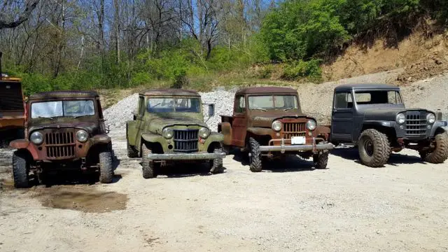
POLYGON ((12 141, 16 187, 29 186, 29 173, 44 182, 48 172, 81 169, 99 172, 111 183, 112 144, 97 92, 59 91, 33 94, 26 102, 25 139, 12 141))

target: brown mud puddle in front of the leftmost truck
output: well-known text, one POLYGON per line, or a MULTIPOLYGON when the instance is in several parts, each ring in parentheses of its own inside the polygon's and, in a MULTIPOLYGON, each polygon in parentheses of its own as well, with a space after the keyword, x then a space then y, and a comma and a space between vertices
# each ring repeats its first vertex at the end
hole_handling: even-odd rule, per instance
POLYGON ((126 209, 127 195, 115 192, 100 192, 93 186, 53 186, 34 188, 43 207, 71 209, 85 213, 106 213, 126 209))

